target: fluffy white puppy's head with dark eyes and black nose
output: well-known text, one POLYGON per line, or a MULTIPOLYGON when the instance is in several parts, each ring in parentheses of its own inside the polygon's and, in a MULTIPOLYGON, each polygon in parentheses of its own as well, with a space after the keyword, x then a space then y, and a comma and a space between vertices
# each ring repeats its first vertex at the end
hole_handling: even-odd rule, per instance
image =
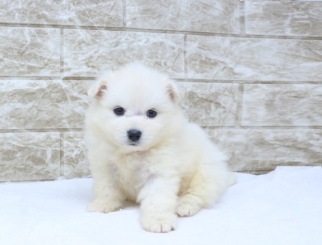
POLYGON ((129 64, 100 77, 88 94, 87 127, 123 152, 162 146, 180 131, 181 94, 159 71, 129 64))

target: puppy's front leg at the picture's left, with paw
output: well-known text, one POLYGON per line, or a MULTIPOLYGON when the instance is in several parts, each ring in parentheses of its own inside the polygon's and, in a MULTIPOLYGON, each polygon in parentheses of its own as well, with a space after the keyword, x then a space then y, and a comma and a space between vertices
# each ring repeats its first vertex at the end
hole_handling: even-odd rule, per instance
POLYGON ((120 184, 117 175, 111 168, 98 170, 100 173, 92 173, 94 179, 95 199, 87 206, 88 212, 109 213, 116 211, 125 200, 125 196, 120 191, 120 184))

